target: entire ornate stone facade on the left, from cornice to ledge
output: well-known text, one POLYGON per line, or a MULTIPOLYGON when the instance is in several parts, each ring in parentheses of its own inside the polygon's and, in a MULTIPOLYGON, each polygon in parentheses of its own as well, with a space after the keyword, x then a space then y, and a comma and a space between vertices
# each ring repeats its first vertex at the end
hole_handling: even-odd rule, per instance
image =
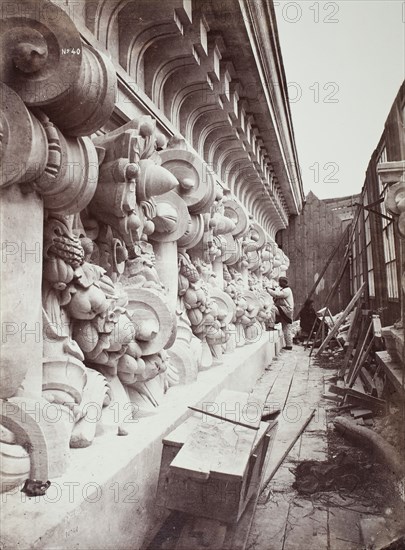
POLYGON ((279 345, 303 192, 274 9, 1 10, 2 542, 138 548, 164 434, 279 345))

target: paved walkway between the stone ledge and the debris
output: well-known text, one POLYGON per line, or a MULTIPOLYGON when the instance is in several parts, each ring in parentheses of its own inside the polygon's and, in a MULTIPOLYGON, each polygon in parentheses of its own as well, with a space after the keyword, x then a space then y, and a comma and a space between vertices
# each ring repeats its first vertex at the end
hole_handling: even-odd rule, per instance
MULTIPOLYGON (((254 393, 265 398, 273 385, 268 402, 283 410, 265 479, 311 410, 315 408, 316 412, 259 499, 248 550, 360 550, 365 548, 360 521, 381 519, 384 514, 392 513, 389 505, 384 506, 381 495, 374 494, 374 486, 364 483, 351 493, 302 496, 293 488, 297 464, 306 460, 326 461, 328 457, 333 460, 331 453, 344 445, 334 440, 337 436, 332 430, 329 434, 327 430, 327 411, 336 403, 322 397, 325 384, 329 384, 329 378, 336 371, 333 363, 326 365, 328 368, 321 368, 317 363, 309 358, 303 346, 294 346, 292 352, 280 354, 255 387, 254 393)), ((373 470, 373 475, 377 474, 373 470)))

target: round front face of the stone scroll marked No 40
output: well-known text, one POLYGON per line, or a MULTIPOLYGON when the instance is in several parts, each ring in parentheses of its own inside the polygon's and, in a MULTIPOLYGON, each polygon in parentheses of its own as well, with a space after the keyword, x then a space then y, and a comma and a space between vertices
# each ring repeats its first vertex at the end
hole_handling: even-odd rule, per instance
POLYGON ((30 106, 63 98, 78 81, 82 64, 82 42, 73 21, 45 0, 4 7, 0 79, 30 106))

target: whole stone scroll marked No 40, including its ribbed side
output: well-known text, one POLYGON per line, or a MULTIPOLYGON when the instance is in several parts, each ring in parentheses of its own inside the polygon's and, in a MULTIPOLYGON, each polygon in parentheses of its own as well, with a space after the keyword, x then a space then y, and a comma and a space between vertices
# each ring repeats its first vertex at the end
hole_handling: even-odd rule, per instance
POLYGON ((69 16, 44 0, 2 10, 0 77, 67 135, 86 136, 114 109, 117 78, 101 52, 82 43, 69 16), (15 16, 23 14, 15 24, 15 16))

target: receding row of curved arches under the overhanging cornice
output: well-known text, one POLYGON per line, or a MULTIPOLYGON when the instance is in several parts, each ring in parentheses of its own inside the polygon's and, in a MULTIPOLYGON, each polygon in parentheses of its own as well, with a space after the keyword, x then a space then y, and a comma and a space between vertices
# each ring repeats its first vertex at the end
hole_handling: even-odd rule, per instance
MULTIPOLYGON (((235 6, 235 5, 234 5, 235 6)), ((289 211, 210 3, 86 0, 85 23, 269 234, 289 211)), ((271 122, 269 121, 269 124, 271 122)))

